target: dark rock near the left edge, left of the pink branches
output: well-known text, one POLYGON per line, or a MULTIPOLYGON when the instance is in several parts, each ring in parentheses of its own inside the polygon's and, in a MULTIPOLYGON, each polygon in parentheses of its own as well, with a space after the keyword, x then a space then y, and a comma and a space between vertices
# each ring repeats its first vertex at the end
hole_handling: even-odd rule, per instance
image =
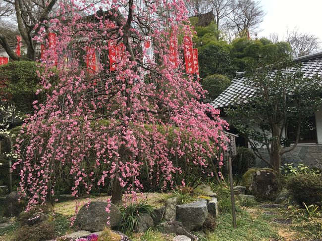
POLYGON ((4 201, 4 216, 18 216, 26 207, 24 200, 19 201, 20 195, 18 192, 9 193, 4 201))

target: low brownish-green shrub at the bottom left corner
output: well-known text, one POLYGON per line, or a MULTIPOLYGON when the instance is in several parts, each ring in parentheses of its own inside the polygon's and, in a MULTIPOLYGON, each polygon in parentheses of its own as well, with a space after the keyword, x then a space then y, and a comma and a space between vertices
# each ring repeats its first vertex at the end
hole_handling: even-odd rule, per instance
POLYGON ((44 241, 56 237, 54 225, 46 222, 34 226, 22 226, 12 241, 44 241))

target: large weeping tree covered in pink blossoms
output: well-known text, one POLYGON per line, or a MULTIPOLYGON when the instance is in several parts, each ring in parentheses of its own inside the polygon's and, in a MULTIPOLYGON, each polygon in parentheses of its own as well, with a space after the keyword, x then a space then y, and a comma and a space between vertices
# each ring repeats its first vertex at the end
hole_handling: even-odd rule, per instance
POLYGON ((29 206, 54 195, 57 173, 66 167, 73 195, 80 187, 90 193, 94 185, 109 185, 111 202, 120 203, 123 192, 144 188, 143 175, 168 189, 178 184, 174 176, 184 186, 185 172, 214 175, 215 164, 222 165, 228 124, 202 102, 205 91, 180 60, 180 41, 191 35, 184 1, 100 4, 89 9, 80 0, 60 3, 59 18, 36 26, 36 41, 45 44, 39 92, 47 99, 35 102, 26 118, 15 163, 29 206), (170 62, 171 32, 179 40, 179 68, 170 62), (48 33, 56 33, 54 45, 48 33), (142 51, 147 36, 153 58, 142 51), (118 46, 113 70, 111 43, 118 46), (100 59, 95 68, 86 64, 89 49, 100 59))

